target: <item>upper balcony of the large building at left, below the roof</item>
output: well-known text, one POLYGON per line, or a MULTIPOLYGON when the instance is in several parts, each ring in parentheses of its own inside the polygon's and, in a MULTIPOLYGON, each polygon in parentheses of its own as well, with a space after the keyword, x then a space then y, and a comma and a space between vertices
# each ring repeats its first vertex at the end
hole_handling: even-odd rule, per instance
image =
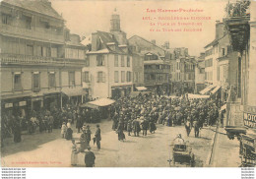
POLYGON ((28 30, 13 27, 10 25, 0 24, 0 33, 21 38, 29 38, 32 40, 41 40, 45 42, 55 42, 64 44, 64 35, 56 34, 51 30, 28 30))

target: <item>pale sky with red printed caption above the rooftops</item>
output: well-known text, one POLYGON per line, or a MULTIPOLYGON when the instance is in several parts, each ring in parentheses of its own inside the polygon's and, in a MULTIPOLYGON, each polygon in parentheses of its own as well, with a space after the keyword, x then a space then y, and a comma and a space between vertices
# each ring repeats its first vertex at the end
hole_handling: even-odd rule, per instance
POLYGON ((158 45, 164 41, 169 41, 170 47, 187 47, 190 55, 198 56, 204 52, 204 46, 214 40, 216 21, 222 21, 225 13, 224 7, 227 0, 172 0, 172 1, 62 1, 51 0, 53 8, 62 14, 66 20, 66 26, 72 33, 81 36, 89 36, 96 30, 109 31, 110 19, 117 9, 120 15, 121 30, 127 33, 127 37, 139 35, 148 40, 156 39, 158 45), (199 9, 203 12, 197 13, 149 13, 149 10, 158 9, 199 9), (151 21, 143 20, 143 17, 151 17, 151 21), (211 20, 158 20, 159 17, 211 17, 211 20), (156 18, 156 19, 155 19, 156 18), (202 26, 182 26, 181 30, 202 29, 202 31, 162 31, 166 29, 180 29, 177 23, 202 23, 202 26), (176 26, 157 27, 150 26, 150 23, 175 23, 176 26), (157 27, 157 28, 156 28, 157 27), (150 31, 150 29, 155 31, 150 31), (161 31, 156 31, 160 29, 161 31))

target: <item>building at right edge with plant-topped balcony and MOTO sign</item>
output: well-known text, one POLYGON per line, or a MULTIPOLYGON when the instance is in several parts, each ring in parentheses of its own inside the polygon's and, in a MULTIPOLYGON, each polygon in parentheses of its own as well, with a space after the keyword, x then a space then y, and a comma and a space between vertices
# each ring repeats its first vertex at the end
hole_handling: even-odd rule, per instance
MULTIPOLYGON (((226 103, 227 137, 237 135, 243 166, 256 165, 256 3, 236 1, 227 4, 224 24, 231 46, 238 53, 237 87, 229 89, 226 103), (236 11, 232 11, 236 10, 236 11), (244 128, 246 127, 246 128, 244 128)), ((237 153, 238 154, 238 153, 237 153)))

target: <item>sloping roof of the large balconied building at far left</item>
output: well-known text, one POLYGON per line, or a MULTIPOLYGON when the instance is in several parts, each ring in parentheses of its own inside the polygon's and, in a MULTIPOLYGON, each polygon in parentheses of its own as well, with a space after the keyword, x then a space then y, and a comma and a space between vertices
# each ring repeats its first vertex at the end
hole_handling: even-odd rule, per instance
POLYGON ((51 7, 51 3, 44 1, 28 1, 28 0, 3 0, 2 3, 10 4, 36 13, 47 15, 56 19, 63 20, 63 18, 51 7))

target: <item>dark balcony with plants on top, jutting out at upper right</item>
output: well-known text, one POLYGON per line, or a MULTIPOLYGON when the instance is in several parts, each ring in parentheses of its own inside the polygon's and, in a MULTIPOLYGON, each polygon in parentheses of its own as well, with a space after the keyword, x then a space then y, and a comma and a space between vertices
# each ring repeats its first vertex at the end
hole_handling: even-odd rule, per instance
POLYGON ((249 7, 250 1, 237 1, 227 4, 225 8, 227 16, 224 18, 224 24, 234 51, 243 51, 248 43, 250 35, 249 7))

